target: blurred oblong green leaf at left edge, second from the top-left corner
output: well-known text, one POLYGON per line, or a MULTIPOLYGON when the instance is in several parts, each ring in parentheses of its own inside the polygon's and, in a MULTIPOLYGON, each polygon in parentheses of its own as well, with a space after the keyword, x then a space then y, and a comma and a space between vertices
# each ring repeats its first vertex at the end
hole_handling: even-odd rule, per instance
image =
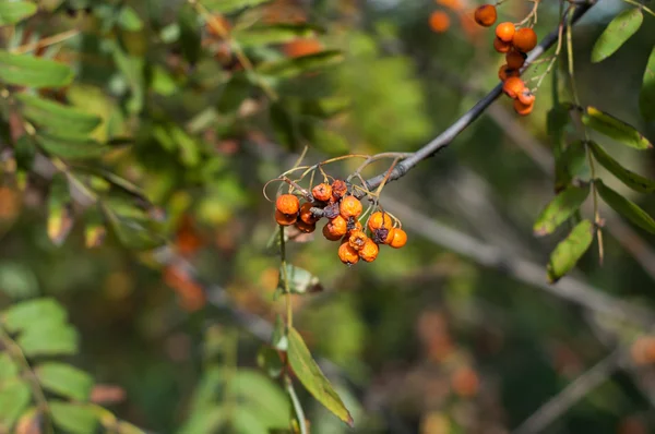
POLYGON ((61 87, 72 80, 73 71, 67 64, 0 50, 0 82, 17 86, 61 87))

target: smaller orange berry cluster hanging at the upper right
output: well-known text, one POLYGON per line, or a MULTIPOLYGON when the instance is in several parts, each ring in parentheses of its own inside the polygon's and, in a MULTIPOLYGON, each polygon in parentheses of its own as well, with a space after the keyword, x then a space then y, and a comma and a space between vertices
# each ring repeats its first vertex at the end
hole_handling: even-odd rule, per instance
MULTIPOLYGON (((476 23, 490 27, 496 23, 498 14, 492 4, 483 4, 475 10, 476 23)), ((514 110, 521 114, 529 114, 535 105, 535 95, 520 79, 521 68, 527 53, 537 46, 537 34, 529 27, 520 27, 504 22, 496 26, 493 48, 505 55, 505 63, 500 67, 498 77, 503 82, 502 91, 514 100, 514 110)))

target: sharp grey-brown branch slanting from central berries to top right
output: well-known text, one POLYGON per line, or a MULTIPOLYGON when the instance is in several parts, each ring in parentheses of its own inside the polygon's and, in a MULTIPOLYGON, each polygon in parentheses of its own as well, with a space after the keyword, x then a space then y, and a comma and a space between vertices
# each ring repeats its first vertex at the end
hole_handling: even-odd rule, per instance
MULTIPOLYGON (((571 24, 574 24, 580 20, 593 5, 595 1, 590 1, 588 3, 582 4, 575 8, 573 12, 573 16, 571 20, 571 24)), ((559 26, 557 29, 550 32, 548 36, 546 36, 541 44, 539 44, 534 50, 531 51, 529 56, 525 60, 525 65, 523 67, 523 71, 529 67, 532 62, 538 59, 544 52, 546 52, 550 47, 555 45, 558 40, 559 35, 559 26)), ((410 169, 413 169, 416 165, 418 165, 424 159, 431 157, 437 152, 446 147, 462 131, 464 131, 468 125, 471 125, 477 118, 485 112, 485 110, 502 94, 502 83, 499 83, 489 94, 487 94, 483 99, 480 99, 471 110, 464 113, 460 119, 457 119, 452 125, 450 125, 444 132, 433 138, 430 143, 412 154, 412 156, 405 158, 401 162, 398 162, 395 168, 389 173, 389 181, 397 180, 404 177, 410 169)), ((371 191, 379 186, 384 179, 386 178, 386 173, 378 174, 366 181, 366 188, 371 191)))

